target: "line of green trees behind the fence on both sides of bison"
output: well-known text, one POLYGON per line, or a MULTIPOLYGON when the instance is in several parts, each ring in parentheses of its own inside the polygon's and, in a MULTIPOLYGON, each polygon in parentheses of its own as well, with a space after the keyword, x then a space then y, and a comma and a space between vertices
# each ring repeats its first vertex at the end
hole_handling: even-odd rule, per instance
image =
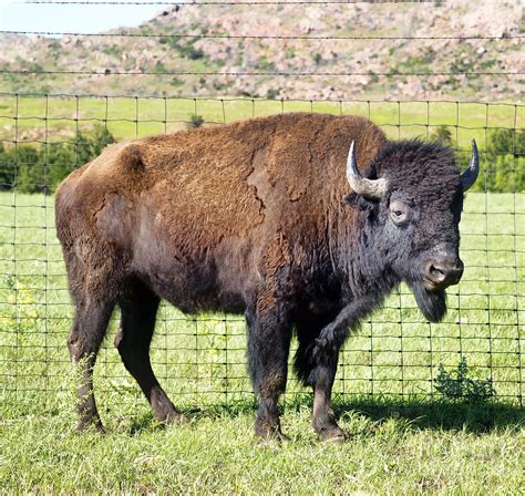
MULTIPOLYGON (((447 126, 437 127, 432 138, 454 145, 447 126)), ((102 125, 90 133, 79 132, 74 141, 63 143, 40 146, 6 146, 0 143, 0 190, 52 194, 62 179, 92 161, 111 143, 115 143, 115 137, 102 125)), ((525 192, 525 131, 491 130, 487 145, 486 161, 482 154, 481 177, 473 189, 525 192)), ((465 154, 457 159, 465 165, 465 154)))

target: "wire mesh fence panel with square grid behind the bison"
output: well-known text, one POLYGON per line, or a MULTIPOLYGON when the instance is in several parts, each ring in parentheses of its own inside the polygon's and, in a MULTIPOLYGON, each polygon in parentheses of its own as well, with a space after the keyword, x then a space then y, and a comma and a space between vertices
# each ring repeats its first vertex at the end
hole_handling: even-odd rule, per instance
MULTIPOLYGON (((498 399, 523 404, 525 105, 13 93, 0 94, 2 402, 24 411, 54 405, 72 374, 65 337, 73 309, 54 230, 58 180, 113 140, 279 112, 364 115, 389 138, 449 142, 463 165, 472 138, 481 152, 477 190, 467 194, 461 224, 466 270, 447 291, 444 321, 425 322, 402 286, 349 338, 334 392, 439 397, 439 366, 454 369, 464 356, 473 376, 492 380, 498 399)), ((117 320, 95 368, 95 389, 111 393, 113 403, 140 396, 112 344, 117 320)), ((163 304, 152 362, 175 402, 231 402, 251 397, 245 345, 241 317, 189 317, 163 304)), ((290 378, 287 392, 302 391, 290 378)))

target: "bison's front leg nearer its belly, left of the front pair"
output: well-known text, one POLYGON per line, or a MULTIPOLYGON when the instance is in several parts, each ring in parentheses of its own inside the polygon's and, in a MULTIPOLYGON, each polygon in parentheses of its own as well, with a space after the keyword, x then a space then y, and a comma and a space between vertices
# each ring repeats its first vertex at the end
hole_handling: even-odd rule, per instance
POLYGON ((255 434, 261 440, 284 440, 278 401, 285 392, 291 323, 282 306, 261 298, 246 311, 248 326, 248 368, 259 399, 255 434))

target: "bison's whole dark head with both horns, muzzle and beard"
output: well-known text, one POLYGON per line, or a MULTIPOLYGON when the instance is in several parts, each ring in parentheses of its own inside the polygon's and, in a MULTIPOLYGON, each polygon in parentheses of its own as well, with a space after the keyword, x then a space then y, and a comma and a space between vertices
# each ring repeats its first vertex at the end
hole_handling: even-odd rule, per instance
POLYGON ((459 224, 463 193, 476 180, 478 155, 472 142, 469 167, 460 174, 453 152, 439 143, 390 142, 361 176, 354 144, 347 178, 369 215, 375 254, 393 279, 413 290, 423 314, 440 321, 446 311, 445 288, 463 275, 459 224))

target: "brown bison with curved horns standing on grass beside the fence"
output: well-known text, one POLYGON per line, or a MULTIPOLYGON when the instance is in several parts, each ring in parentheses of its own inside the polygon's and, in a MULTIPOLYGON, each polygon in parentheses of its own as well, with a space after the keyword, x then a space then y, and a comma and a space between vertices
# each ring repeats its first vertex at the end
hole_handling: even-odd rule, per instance
POLYGON ((56 192, 79 427, 103 430, 92 370, 115 306, 115 345, 155 417, 184 420, 148 356, 165 299, 187 313, 245 314, 262 438, 282 437, 277 403, 295 330, 313 430, 344 438, 331 410, 339 350, 401 281, 426 319, 443 318, 444 290, 463 272, 463 193, 477 173, 475 142, 461 174, 442 144, 388 141, 359 116, 281 114, 109 146, 56 192))

